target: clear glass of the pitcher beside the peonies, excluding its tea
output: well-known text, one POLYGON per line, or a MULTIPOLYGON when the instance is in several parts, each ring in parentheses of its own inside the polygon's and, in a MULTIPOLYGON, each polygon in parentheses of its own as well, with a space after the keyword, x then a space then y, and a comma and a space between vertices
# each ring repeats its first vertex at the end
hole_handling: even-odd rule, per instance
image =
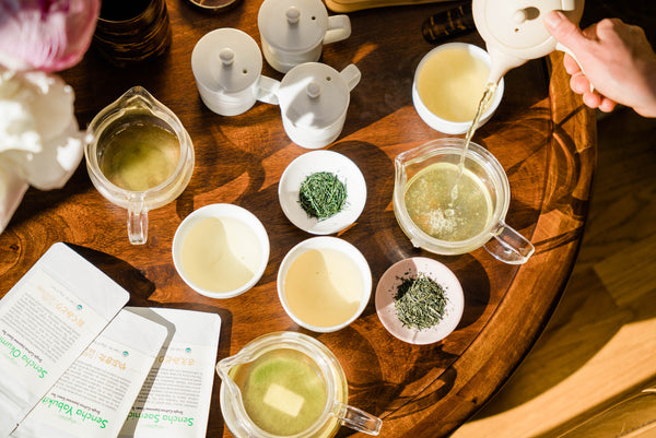
MULTIPOLYGON (((191 178, 195 161, 194 144, 183 123, 141 86, 128 90, 94 117, 86 129, 84 156, 94 187, 108 201, 128 210, 128 237, 133 245, 142 245, 148 240, 148 212, 167 204, 185 190, 191 178), (177 159, 172 159, 169 175, 162 177, 152 187, 130 188, 113 182, 101 166, 112 141, 127 130, 147 126, 154 127, 160 133, 173 135, 177 141, 178 146, 173 146, 173 156, 177 156, 177 159)), ((129 165, 140 164, 134 158, 129 165)))

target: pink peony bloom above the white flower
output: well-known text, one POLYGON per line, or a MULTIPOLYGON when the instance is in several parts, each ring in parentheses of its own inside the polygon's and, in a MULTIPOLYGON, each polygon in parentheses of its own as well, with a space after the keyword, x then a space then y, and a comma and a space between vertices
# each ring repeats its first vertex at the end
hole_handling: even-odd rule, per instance
POLYGON ((0 64, 54 72, 89 49, 101 0, 0 0, 0 64))

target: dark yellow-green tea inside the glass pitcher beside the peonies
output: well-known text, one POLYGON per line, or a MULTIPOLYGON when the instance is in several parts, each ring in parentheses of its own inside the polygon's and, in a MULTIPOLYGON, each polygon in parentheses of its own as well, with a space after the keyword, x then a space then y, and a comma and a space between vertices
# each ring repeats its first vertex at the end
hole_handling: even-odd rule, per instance
POLYGON ((106 139, 101 171, 125 190, 152 189, 168 179, 180 157, 177 137, 148 119, 125 123, 106 139))

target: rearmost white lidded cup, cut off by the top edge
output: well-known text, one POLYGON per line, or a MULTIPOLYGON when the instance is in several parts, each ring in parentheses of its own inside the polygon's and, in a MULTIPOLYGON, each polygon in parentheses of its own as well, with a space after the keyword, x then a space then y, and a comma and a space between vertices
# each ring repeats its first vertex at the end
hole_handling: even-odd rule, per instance
POLYGON ((328 16, 320 0, 265 0, 257 25, 265 59, 281 73, 318 61, 325 44, 351 35, 349 17, 328 16))

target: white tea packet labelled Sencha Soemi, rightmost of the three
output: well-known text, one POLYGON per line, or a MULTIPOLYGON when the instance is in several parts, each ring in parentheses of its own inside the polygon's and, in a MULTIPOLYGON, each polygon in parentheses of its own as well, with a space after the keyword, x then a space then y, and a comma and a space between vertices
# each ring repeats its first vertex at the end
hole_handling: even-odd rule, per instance
POLYGON ((221 331, 216 313, 126 307, 174 329, 128 414, 121 438, 203 438, 221 331))

